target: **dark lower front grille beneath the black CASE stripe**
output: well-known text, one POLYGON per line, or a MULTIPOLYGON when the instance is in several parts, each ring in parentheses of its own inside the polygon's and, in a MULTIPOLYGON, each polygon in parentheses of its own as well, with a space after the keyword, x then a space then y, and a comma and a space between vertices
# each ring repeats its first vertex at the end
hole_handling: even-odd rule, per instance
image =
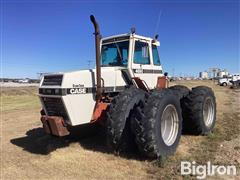
POLYGON ((61 98, 42 97, 42 102, 49 116, 61 116, 64 120, 69 120, 61 98))

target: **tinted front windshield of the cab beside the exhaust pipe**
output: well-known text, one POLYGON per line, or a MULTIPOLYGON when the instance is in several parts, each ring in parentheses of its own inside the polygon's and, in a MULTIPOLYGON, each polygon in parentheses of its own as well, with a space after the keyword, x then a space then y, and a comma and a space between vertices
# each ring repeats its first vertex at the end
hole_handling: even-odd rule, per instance
POLYGON ((127 66, 129 41, 102 45, 102 66, 127 66))

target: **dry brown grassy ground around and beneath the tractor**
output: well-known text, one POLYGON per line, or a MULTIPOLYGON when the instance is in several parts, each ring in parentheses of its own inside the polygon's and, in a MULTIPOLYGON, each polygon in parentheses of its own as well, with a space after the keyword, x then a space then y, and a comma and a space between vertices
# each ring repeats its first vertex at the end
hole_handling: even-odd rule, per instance
POLYGON ((217 122, 209 136, 183 135, 177 152, 165 163, 139 154, 113 155, 103 133, 81 127, 75 136, 46 135, 39 120, 36 87, 1 89, 1 179, 194 179, 180 175, 181 161, 240 167, 240 91, 211 81, 179 81, 188 87, 212 87, 217 99, 217 122))

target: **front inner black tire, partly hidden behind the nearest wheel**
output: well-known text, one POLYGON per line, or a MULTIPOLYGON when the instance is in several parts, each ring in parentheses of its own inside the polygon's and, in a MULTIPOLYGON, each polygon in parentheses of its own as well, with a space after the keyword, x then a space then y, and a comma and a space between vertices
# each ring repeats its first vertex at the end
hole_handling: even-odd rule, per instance
POLYGON ((116 96, 107 112, 107 144, 115 152, 127 152, 134 149, 135 142, 130 128, 130 116, 140 101, 144 101, 145 92, 130 87, 116 96))

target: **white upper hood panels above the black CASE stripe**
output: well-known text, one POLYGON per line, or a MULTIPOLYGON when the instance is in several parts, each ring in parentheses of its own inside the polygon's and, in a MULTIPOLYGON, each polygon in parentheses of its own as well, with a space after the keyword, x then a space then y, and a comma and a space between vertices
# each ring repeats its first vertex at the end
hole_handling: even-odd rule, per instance
MULTIPOLYGON (((123 67, 102 67, 102 86, 122 87, 127 83, 123 78, 123 67)), ((40 83, 40 88, 92 88, 96 87, 96 69, 80 70, 66 73, 45 75, 40 83)))

